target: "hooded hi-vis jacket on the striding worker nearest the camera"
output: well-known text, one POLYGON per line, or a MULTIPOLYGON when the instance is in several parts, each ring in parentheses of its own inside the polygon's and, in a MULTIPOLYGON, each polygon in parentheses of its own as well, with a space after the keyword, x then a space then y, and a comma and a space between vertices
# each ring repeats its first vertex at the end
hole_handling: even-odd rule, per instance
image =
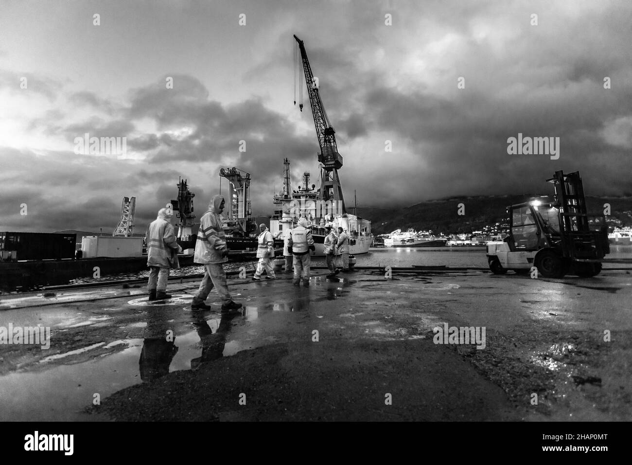
POLYGON ((195 243, 195 263, 224 263, 228 261, 222 254, 228 252, 226 235, 219 218, 219 206, 224 200, 221 195, 213 195, 209 209, 200 218, 200 231, 195 243))

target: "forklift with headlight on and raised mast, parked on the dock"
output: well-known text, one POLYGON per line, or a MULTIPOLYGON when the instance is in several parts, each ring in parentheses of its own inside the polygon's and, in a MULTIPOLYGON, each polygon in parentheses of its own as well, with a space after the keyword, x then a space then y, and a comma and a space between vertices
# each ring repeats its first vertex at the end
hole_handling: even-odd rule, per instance
POLYGON ((556 171, 555 197, 536 197, 507 207, 509 235, 487 244, 489 268, 495 275, 507 270, 528 274, 533 266, 544 278, 599 275, 610 253, 605 216, 586 213, 579 171, 556 171))

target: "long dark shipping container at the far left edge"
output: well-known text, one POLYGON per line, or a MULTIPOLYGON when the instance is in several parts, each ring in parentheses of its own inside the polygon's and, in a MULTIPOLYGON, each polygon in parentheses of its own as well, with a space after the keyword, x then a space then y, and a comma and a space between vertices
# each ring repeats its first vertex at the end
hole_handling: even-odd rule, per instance
POLYGON ((75 242, 76 234, 0 232, 1 255, 14 260, 74 259, 75 242))

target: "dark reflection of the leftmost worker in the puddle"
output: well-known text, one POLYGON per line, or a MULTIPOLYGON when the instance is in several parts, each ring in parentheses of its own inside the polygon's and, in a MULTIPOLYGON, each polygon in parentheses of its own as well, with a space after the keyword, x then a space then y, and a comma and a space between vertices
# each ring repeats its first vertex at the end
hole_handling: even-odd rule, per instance
POLYGON ((167 319, 170 318, 164 313, 150 313, 147 319, 145 340, 138 361, 140 379, 143 381, 152 381, 169 373, 169 365, 178 352, 174 328, 167 319))

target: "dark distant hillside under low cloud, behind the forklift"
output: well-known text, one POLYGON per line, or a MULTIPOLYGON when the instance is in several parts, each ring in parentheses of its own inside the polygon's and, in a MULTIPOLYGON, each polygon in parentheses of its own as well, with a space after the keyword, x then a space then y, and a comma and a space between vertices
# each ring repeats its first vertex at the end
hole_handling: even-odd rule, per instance
MULTIPOLYGON (((358 216, 372 221, 375 235, 396 229, 432 230, 434 234, 471 233, 483 226, 506 223, 506 208, 525 202, 534 195, 495 195, 451 197, 428 201, 406 208, 358 208, 358 216), (458 204, 464 204, 465 215, 459 216, 458 204)), ((632 225, 632 197, 586 197, 588 213, 603 213, 604 204, 611 205, 609 225, 632 225)))

